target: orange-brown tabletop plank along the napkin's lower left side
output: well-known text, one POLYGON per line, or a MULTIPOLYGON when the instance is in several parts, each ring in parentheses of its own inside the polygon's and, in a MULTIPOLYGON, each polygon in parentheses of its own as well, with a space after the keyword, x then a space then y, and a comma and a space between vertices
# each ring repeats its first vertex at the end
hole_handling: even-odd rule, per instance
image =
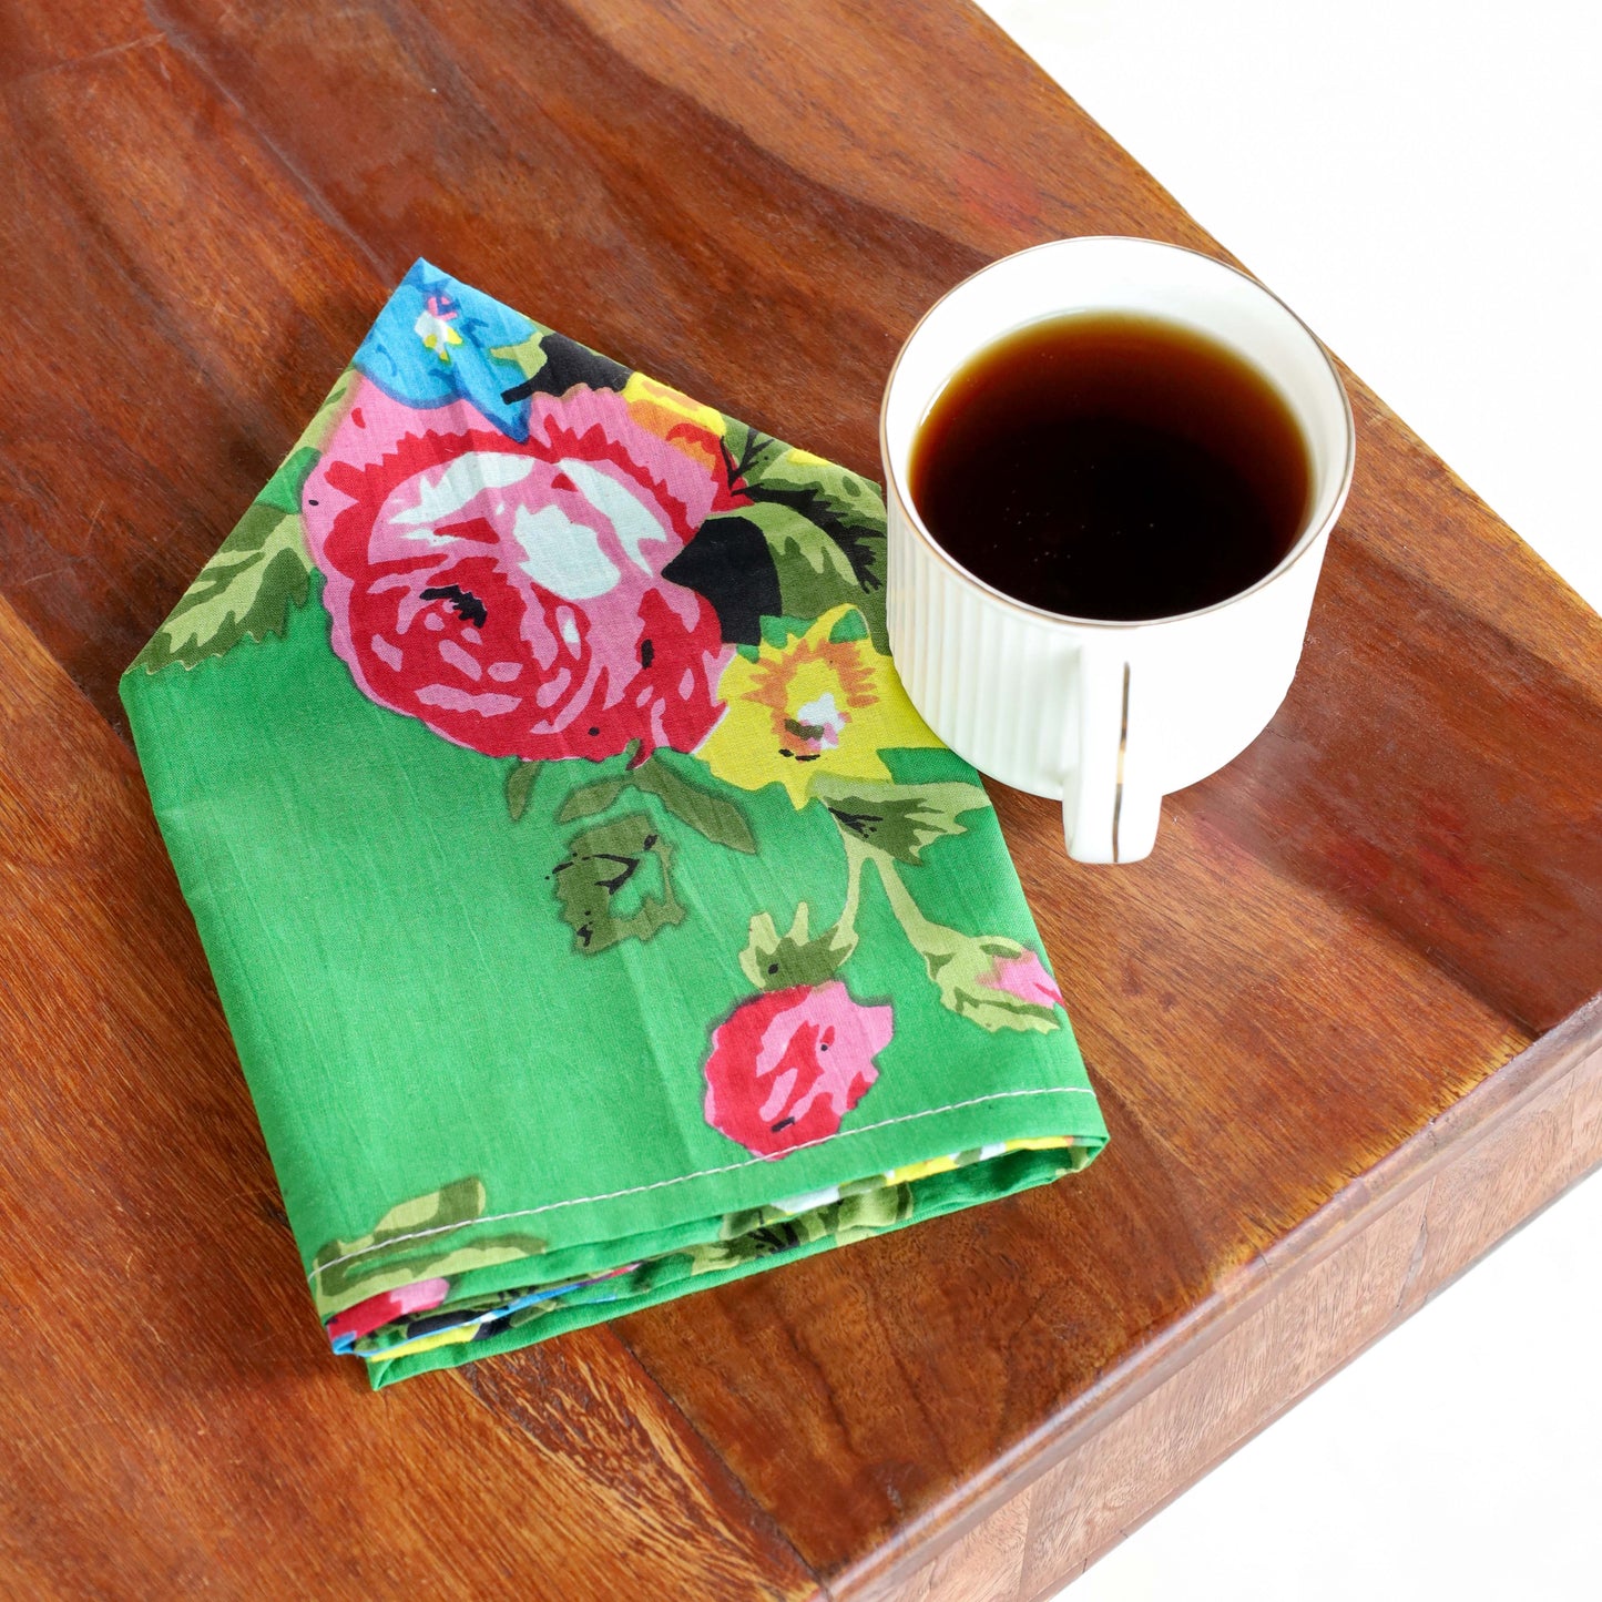
POLYGON ((609 1330, 330 1363, 131 753, 0 602, 8 1596, 799 1599, 609 1330))

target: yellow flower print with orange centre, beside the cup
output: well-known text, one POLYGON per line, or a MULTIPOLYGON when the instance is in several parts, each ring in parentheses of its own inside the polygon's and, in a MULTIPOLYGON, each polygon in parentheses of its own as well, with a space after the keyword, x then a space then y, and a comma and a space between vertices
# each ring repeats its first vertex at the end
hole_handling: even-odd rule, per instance
POLYGON ((729 710, 695 753, 719 779, 742 790, 780 783, 803 807, 820 774, 888 782, 879 751, 940 748, 889 657, 867 638, 828 638, 852 610, 838 606, 783 646, 764 641, 756 662, 737 655, 724 668, 718 695, 729 710))

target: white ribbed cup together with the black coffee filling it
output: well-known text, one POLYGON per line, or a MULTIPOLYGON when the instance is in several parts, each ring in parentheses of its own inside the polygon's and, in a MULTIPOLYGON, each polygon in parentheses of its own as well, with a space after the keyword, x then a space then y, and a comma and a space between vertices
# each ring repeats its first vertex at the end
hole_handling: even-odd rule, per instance
POLYGON ((1145 855, 1161 796, 1243 750, 1294 674, 1354 458, 1328 354, 1208 256, 1059 240, 924 316, 879 442, 913 703, 1061 799, 1070 855, 1145 855))

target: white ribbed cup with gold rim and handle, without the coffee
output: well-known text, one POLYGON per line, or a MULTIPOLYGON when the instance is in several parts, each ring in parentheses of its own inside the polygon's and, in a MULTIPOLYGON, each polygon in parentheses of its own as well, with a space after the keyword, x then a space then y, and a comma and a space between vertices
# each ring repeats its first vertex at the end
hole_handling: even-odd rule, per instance
POLYGON ((1352 409, 1306 325, 1253 279, 1149 239, 1062 239, 958 284, 913 328, 879 413, 889 513, 889 634, 913 705, 982 772, 1062 801, 1069 855, 1137 862, 1163 796, 1216 772, 1290 689, 1330 529, 1352 481, 1352 409), (1190 327, 1254 364, 1296 418, 1309 509, 1258 583, 1179 617, 1062 617, 976 578, 908 492, 918 428, 947 380, 1025 324, 1123 311, 1190 327))

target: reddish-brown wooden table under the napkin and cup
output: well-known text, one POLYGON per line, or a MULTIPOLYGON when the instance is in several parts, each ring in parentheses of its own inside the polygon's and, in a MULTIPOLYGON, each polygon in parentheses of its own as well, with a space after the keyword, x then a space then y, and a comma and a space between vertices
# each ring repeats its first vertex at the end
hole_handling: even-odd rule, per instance
POLYGON ((952 3, 11 0, 0 107, 6 1594, 1046 1596, 1602 1157, 1602 631, 1352 380, 1269 732, 1133 868, 996 793, 1107 1155, 367 1394, 115 678, 386 288, 873 471, 985 260, 1216 247, 952 3))

